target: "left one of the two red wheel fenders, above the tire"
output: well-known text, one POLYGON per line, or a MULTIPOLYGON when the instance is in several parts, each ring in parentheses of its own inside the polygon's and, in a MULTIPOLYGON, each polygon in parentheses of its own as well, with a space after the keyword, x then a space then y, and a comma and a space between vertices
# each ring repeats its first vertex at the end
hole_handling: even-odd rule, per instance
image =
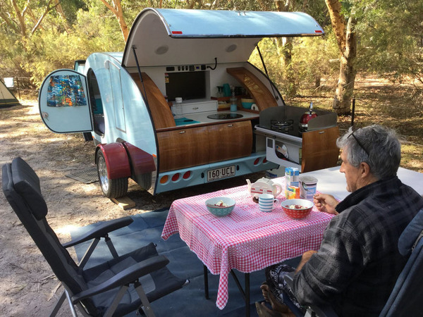
POLYGON ((130 177, 129 158, 123 144, 119 142, 99 144, 96 154, 97 151, 103 152, 109 179, 114 180, 116 178, 130 177))

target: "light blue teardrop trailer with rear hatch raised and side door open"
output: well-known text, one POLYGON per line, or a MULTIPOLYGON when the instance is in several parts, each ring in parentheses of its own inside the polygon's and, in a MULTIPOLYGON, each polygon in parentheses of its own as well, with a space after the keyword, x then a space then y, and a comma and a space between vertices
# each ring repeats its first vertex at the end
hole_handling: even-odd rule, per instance
MULTIPOLYGON (((274 116, 300 118, 304 109, 286 106, 269 77, 247 60, 264 37, 323 33, 305 13, 147 8, 123 52, 94 53, 75 70, 50 73, 39 89, 39 111, 53 132, 92 133, 109 198, 126 194, 128 178, 158 194, 281 163, 301 169, 302 136, 288 135, 290 159, 272 162, 266 155, 276 137, 257 128, 274 116), (235 95, 221 96, 223 84, 235 87, 235 95), (235 112, 227 108, 231 97, 235 112), (252 109, 241 106, 245 97, 254 100, 252 109), (178 106, 177 98, 183 99, 178 106)), ((330 118, 314 130, 336 125, 336 115, 333 124, 321 114, 330 118)))

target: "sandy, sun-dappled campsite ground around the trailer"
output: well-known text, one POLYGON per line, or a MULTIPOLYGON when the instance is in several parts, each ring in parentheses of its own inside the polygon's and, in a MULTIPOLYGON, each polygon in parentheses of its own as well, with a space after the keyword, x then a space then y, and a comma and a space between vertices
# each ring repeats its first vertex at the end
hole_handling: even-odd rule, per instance
MULTIPOLYGON (((410 87, 388 80, 361 77, 356 84, 355 123, 380 123, 396 128, 406 138, 401 166, 423 173, 423 120, 421 108, 413 108, 405 95, 410 87), (420 109, 420 110, 419 110, 420 109)), ((329 93, 313 92, 298 96, 288 104, 330 108, 329 93)), ((350 116, 340 117, 343 130, 350 116)), ((49 206, 47 220, 61 242, 69 240, 69 230, 102 220, 168 208, 172 201, 218 189, 245 184, 246 177, 223 180, 152 196, 130 181, 128 197, 135 208, 122 210, 102 196, 98 182, 82 184, 66 178, 76 170, 94 166, 94 144, 82 135, 56 135, 39 118, 36 100, 23 99, 20 106, 0 108, 0 165, 21 156, 37 172, 49 206)), ((261 173, 249 175, 252 181, 261 173)), ((0 316, 47 316, 61 294, 58 280, 30 239, 23 225, 0 193, 0 316)), ((74 256, 75 254, 73 254, 74 256)), ((63 304, 59 316, 70 316, 63 304)))

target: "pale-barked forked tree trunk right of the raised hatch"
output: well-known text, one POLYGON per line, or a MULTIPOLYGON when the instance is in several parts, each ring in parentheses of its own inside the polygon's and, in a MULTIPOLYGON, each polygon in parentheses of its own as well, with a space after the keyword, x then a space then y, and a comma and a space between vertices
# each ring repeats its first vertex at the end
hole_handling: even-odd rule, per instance
POLYGON ((338 48, 341 52, 341 66, 339 69, 338 85, 333 98, 333 110, 338 114, 350 113, 350 100, 353 96, 355 75, 355 56, 357 55, 357 39, 355 37, 355 18, 348 19, 341 14, 341 2, 339 0, 325 0, 331 16, 333 32, 336 35, 338 48))

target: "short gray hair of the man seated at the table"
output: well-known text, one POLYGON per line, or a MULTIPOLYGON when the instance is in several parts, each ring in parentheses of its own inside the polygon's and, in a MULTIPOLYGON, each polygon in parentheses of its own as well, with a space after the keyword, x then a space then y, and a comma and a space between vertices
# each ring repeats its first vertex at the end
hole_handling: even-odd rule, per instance
POLYGON ((401 161, 401 144, 397 133, 381 125, 350 128, 336 145, 344 149, 348 163, 354 167, 369 164, 370 173, 379 180, 396 175, 401 161))

